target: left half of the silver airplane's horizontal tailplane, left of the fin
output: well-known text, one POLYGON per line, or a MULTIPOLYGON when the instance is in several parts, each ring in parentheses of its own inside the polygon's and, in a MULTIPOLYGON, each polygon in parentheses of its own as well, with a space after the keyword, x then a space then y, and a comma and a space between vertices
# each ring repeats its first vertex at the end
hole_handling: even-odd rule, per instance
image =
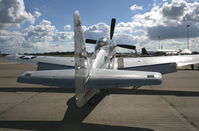
POLYGON ((17 82, 40 84, 45 86, 74 88, 74 72, 74 69, 27 71, 18 77, 17 82))

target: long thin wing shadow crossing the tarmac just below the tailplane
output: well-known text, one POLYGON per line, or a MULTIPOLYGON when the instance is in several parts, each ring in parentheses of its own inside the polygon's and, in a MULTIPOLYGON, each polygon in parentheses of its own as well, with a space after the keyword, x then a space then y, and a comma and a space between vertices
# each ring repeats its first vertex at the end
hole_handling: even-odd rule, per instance
MULTIPOLYGON (((73 88, 0 88, 0 92, 47 92, 47 93, 74 93, 73 88)), ((199 97, 198 91, 177 91, 177 90, 150 90, 150 89, 107 89, 108 94, 129 94, 129 95, 173 95, 185 97, 199 97)))

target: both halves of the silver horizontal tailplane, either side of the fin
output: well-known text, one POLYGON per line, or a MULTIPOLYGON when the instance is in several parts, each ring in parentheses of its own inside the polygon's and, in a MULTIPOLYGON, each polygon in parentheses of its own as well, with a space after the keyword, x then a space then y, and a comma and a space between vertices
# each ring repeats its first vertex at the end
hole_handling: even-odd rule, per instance
MULTIPOLYGON (((88 88, 117 88, 161 84, 157 72, 95 69, 86 82, 88 88)), ((27 71, 17 79, 20 83, 40 84, 64 88, 75 87, 75 70, 27 71)))

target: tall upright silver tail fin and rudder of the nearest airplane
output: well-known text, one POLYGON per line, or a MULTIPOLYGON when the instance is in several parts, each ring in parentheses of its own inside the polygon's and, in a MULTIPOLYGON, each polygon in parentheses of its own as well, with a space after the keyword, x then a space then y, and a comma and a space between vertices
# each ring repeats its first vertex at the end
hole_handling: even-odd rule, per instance
POLYGON ((74 46, 75 46, 75 94, 76 104, 82 107, 96 94, 97 89, 88 89, 89 62, 81 26, 80 13, 74 12, 74 46))

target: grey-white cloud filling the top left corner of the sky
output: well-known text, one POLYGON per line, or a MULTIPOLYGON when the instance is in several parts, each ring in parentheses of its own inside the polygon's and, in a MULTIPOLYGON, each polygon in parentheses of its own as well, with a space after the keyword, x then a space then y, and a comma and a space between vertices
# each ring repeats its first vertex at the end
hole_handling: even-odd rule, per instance
MULTIPOLYGON (((38 12, 36 13, 39 15, 38 12)), ((24 21, 34 23, 35 17, 25 11, 23 0, 0 1, 0 28, 19 25, 24 21)))

